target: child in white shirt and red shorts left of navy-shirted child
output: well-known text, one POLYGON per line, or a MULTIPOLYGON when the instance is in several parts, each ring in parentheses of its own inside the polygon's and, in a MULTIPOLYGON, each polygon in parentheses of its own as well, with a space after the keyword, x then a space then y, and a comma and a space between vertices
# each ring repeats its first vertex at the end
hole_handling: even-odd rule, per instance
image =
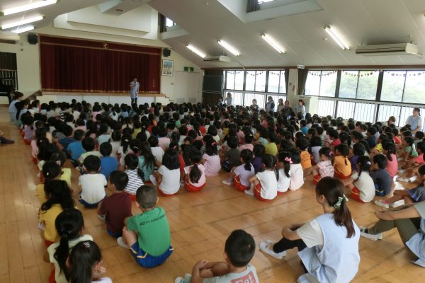
POLYGON ((358 202, 371 202, 375 197, 375 183, 370 177, 372 162, 368 156, 360 156, 357 160, 358 178, 344 180, 346 187, 351 189, 351 199, 358 202))

